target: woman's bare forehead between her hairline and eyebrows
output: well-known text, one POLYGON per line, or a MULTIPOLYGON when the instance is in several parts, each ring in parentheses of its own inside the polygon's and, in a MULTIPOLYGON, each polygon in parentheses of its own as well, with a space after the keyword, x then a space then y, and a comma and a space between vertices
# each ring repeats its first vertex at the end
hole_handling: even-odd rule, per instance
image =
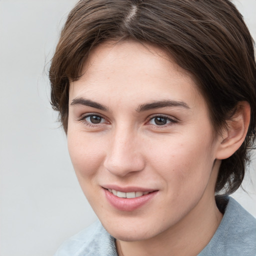
POLYGON ((187 71, 161 48, 132 40, 106 42, 90 52, 80 78, 70 82, 69 101, 83 95, 93 100, 114 98, 122 104, 132 104, 127 97, 134 103, 166 97, 202 103, 187 71))

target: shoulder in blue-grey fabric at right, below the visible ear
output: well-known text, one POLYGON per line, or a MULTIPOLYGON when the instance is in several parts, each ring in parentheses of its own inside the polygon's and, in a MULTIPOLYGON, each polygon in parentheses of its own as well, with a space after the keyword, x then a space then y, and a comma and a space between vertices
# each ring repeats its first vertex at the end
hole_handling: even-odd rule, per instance
POLYGON ((204 255, 256 255, 256 219, 232 197, 227 201, 223 218, 207 246, 204 255))

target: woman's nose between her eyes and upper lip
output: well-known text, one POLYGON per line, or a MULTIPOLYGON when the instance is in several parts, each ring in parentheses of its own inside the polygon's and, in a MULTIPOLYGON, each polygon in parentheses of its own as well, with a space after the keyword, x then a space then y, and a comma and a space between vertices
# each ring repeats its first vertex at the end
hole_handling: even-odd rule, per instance
POLYGON ((120 128, 111 137, 104 167, 112 174, 124 177, 129 173, 140 171, 145 167, 139 136, 120 128))

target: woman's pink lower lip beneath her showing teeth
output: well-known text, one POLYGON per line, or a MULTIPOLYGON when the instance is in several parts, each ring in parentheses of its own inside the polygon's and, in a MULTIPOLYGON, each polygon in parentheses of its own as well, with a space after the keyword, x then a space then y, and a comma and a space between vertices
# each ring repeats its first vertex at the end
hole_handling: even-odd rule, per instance
POLYGON ((141 207, 149 200, 151 200, 157 193, 157 191, 153 191, 150 192, 149 194, 141 195, 134 198, 122 198, 112 194, 105 188, 104 190, 106 199, 110 202, 110 204, 114 206, 116 209, 123 211, 132 211, 141 207))

